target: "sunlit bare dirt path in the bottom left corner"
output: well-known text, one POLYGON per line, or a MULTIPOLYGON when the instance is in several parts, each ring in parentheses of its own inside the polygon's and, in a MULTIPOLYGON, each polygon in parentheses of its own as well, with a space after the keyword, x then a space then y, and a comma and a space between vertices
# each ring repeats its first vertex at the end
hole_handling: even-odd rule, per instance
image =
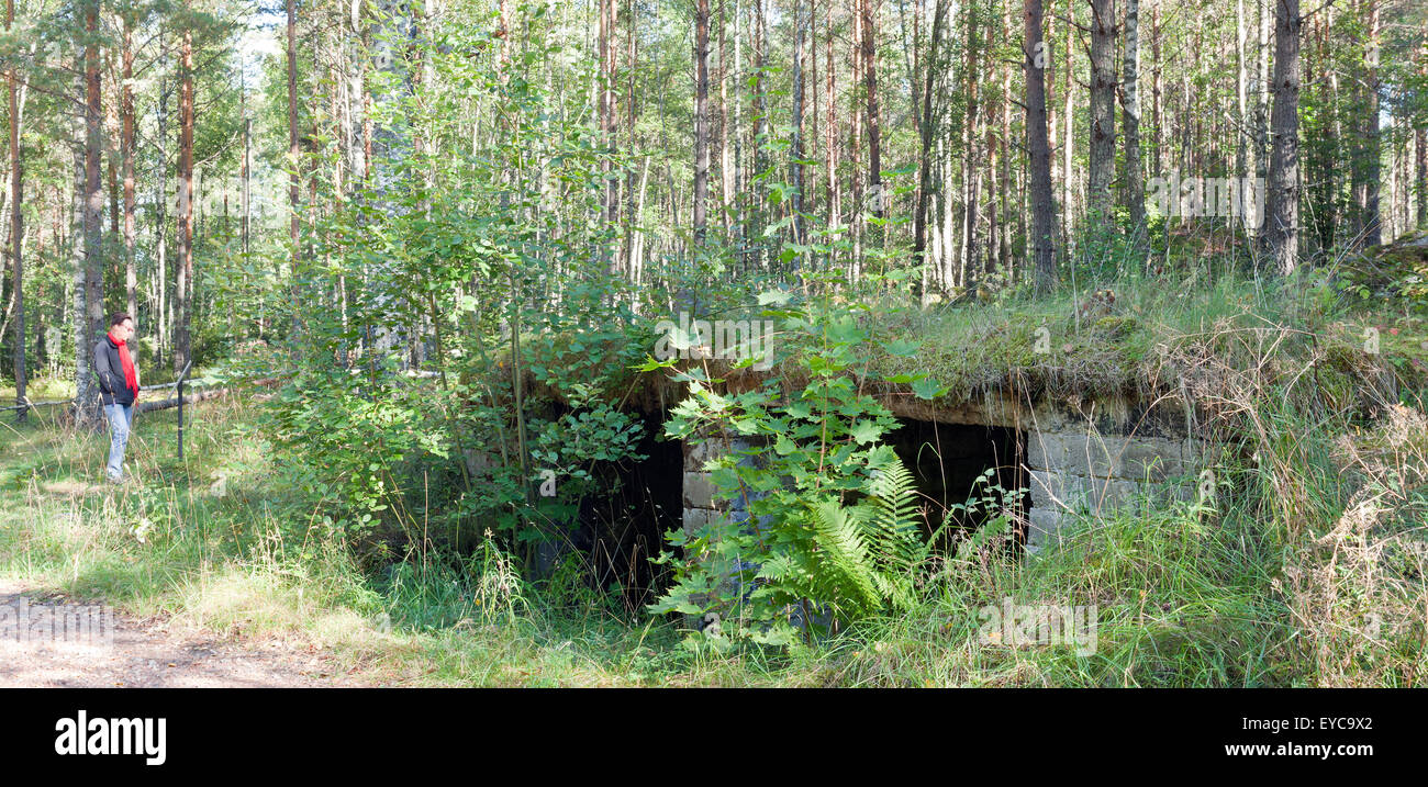
POLYGON ((354 684, 316 647, 280 640, 226 643, 170 633, 161 620, 99 610, 0 580, 0 687, 354 684))

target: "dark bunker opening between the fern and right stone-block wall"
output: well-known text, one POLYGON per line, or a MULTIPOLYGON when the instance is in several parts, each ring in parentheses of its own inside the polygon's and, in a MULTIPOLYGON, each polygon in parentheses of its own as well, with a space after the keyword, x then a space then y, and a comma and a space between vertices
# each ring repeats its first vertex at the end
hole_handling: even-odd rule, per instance
POLYGON ((937 547, 950 550, 992 516, 1008 513, 1018 547, 1025 543, 1031 498, 1015 493, 1030 486, 1024 432, 911 418, 900 418, 898 425, 888 442, 917 482, 924 536, 931 537, 948 522, 937 547), (987 470, 991 475, 984 478, 987 470), (970 499, 978 505, 955 508, 970 499))

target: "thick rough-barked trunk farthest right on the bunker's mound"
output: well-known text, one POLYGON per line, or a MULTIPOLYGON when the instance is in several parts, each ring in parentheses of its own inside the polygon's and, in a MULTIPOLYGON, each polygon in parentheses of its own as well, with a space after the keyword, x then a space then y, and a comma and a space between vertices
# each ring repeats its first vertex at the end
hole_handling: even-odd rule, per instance
POLYGON ((1299 247, 1299 0, 1274 0, 1274 110, 1264 250, 1275 271, 1294 272, 1299 247))

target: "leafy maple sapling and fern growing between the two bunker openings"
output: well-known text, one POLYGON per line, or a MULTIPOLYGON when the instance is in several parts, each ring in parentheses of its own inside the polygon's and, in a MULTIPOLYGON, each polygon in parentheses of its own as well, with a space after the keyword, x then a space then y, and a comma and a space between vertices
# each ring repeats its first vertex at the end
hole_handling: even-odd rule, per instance
POLYGON ((717 379, 680 374, 690 396, 667 433, 733 438, 740 448, 710 465, 730 513, 695 533, 668 535, 684 560, 651 612, 715 614, 720 637, 787 644, 800 629, 811 634, 910 605, 927 552, 911 475, 881 445, 892 416, 845 374, 860 362, 865 329, 828 304, 765 315, 780 318, 781 345, 808 384, 793 394, 777 382, 721 394, 717 379))

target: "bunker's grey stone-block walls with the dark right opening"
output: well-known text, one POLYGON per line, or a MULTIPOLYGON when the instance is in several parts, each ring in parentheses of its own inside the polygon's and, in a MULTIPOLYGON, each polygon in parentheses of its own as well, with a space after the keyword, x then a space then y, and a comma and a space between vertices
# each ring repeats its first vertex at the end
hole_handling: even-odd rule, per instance
MULTIPOLYGON (((885 396, 900 421, 888 435, 902 463, 917 479, 924 532, 931 533, 948 508, 964 503, 974 482, 992 470, 990 485, 1027 495, 1002 499, 1017 523, 1017 540, 1035 553, 1054 545, 1078 512, 1102 513, 1141 495, 1188 496, 1201 466, 1201 443, 1191 436, 1187 411, 1161 399, 1042 398, 1027 403, 988 396, 954 406, 910 396, 885 396)), ((685 443, 683 522, 693 532, 728 512, 718 500, 705 465, 737 451, 738 438, 714 436, 685 443)), ((958 523, 980 525, 977 518, 958 523)))

